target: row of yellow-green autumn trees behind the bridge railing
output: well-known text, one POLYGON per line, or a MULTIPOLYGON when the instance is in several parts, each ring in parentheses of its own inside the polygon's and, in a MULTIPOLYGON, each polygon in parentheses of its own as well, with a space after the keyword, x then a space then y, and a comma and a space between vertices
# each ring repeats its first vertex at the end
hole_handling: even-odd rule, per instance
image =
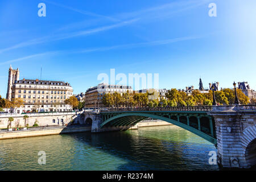
MULTIPOLYGON (((154 94, 154 93, 153 93, 154 94)), ((219 105, 234 104, 235 94, 233 89, 222 89, 214 92, 216 102, 219 105)), ((187 95, 177 89, 168 90, 166 98, 159 97, 149 100, 147 93, 105 93, 102 102, 108 107, 158 107, 158 106, 198 106, 212 105, 213 93, 200 93, 199 90, 193 90, 192 94, 187 95)), ((241 89, 237 89, 237 96, 241 104, 249 104, 249 98, 242 93, 241 89)))

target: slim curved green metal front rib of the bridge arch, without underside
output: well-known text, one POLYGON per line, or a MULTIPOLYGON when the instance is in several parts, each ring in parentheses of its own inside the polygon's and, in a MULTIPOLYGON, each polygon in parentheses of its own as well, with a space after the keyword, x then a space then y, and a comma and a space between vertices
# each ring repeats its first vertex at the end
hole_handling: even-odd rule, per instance
POLYGON ((132 116, 132 115, 143 116, 143 117, 160 119, 160 120, 166 121, 166 122, 171 123, 173 125, 179 126, 179 127, 183 128, 185 130, 188 130, 191 133, 196 134, 197 136, 199 136, 201 138, 204 138, 205 140, 207 140, 210 143, 217 144, 217 140, 215 138, 213 138, 210 135, 207 135, 207 134, 203 133, 202 131, 199 131, 199 130, 191 127, 191 126, 185 125, 184 123, 177 122, 174 119, 162 117, 160 115, 155 115, 155 114, 148 114, 148 113, 123 113, 123 114, 118 114, 118 115, 115 115, 112 118, 107 119, 103 123, 101 123, 101 127, 103 127, 107 123, 113 121, 114 119, 118 119, 118 118, 121 118, 121 117, 129 117, 129 116, 132 116))

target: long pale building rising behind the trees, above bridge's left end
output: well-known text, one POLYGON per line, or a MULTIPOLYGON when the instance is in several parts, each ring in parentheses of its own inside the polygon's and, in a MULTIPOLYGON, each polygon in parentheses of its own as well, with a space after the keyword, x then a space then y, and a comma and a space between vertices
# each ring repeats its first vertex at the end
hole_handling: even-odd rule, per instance
POLYGON ((133 93, 131 86, 98 84, 86 90, 85 107, 105 107, 102 98, 105 93, 133 93))

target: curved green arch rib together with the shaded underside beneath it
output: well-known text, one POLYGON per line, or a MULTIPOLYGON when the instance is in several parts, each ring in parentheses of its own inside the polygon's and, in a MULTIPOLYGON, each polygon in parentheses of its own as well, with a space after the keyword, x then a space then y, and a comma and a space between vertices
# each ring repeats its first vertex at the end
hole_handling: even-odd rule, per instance
POLYGON ((189 126, 185 124, 184 122, 178 122, 174 119, 163 117, 156 114, 149 114, 149 113, 122 113, 118 115, 114 115, 113 117, 110 117, 109 119, 106 119, 103 123, 101 123, 101 128, 104 126, 134 126, 138 122, 142 121, 146 118, 154 118, 154 119, 160 119, 162 121, 166 121, 168 123, 171 123, 173 125, 179 126, 185 130, 190 131, 193 134, 196 134, 197 136, 204 138, 205 140, 208 140, 208 142, 216 144, 216 138, 212 137, 211 135, 208 135, 206 133, 203 133, 202 131, 196 129, 195 127, 189 126))

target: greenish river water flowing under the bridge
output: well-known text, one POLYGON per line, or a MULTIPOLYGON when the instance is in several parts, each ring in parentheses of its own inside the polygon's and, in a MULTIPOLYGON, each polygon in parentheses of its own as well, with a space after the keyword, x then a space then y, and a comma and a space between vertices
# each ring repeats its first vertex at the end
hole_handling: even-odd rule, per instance
POLYGON ((0 140, 0 170, 218 170, 209 151, 212 143, 177 126, 49 135, 0 140))

